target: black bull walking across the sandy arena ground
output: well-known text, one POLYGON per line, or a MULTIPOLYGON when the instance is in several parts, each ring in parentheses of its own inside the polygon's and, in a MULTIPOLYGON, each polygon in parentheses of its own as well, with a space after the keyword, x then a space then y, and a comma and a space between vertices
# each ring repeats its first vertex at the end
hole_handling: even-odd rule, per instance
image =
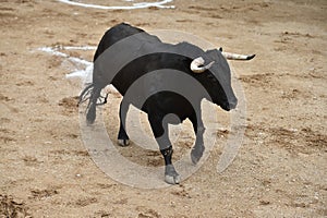
POLYGON ((132 104, 148 114, 165 158, 165 181, 172 184, 180 182, 180 175, 171 161, 173 150, 168 124, 191 120, 196 135, 191 159, 196 164, 205 150, 202 99, 206 98, 227 111, 235 108, 238 102, 231 88, 230 69, 220 50, 204 51, 187 43, 164 44, 158 37, 128 24, 107 31, 94 56, 93 83, 80 97, 80 102, 89 99, 88 123, 95 121, 96 106, 104 98, 100 92, 109 84, 124 96, 120 105, 119 143, 122 146, 129 144, 125 118, 132 104), (199 57, 203 62, 198 63, 199 57), (194 60, 197 61, 195 69, 194 60), (213 63, 204 68, 204 63, 209 62, 213 63), (174 117, 168 116, 170 113, 174 117))

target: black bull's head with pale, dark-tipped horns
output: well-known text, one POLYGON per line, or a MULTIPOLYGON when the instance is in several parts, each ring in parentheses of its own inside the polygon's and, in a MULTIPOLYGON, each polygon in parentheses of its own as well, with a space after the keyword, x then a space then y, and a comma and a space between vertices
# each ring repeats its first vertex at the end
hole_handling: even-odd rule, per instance
POLYGON ((214 104, 219 105, 223 110, 234 109, 238 99, 231 87, 231 73, 227 63, 229 60, 251 60, 253 56, 222 52, 222 49, 214 49, 205 52, 191 62, 191 70, 198 75, 205 85, 214 104), (206 60, 206 61, 205 61, 206 60), (207 62, 207 64, 205 64, 207 62))

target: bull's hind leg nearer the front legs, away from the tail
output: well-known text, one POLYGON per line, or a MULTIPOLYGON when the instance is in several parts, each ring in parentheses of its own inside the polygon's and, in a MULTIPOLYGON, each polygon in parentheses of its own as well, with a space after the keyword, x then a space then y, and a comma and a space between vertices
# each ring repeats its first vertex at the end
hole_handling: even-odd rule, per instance
POLYGON ((130 137, 125 131, 128 110, 129 106, 122 100, 119 108, 120 128, 118 133, 118 143, 121 146, 128 146, 130 144, 130 137))

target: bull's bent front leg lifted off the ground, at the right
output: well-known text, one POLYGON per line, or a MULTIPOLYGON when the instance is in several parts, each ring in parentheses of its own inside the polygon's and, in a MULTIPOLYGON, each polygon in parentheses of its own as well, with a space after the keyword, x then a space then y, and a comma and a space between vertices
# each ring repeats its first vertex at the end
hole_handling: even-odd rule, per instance
POLYGON ((192 162, 196 165, 198 160, 202 158, 203 153, 205 150, 204 141, 203 141, 203 134, 205 132, 205 128, 202 120, 197 119, 195 113, 190 118, 190 120, 193 124, 193 129, 196 136, 195 145, 191 152, 191 159, 192 162))

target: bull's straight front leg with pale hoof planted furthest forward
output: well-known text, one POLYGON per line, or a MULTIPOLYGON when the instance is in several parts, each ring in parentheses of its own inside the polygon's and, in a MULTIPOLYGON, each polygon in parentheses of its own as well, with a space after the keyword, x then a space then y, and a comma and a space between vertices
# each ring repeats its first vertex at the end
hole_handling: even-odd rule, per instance
POLYGON ((169 184, 179 184, 181 177, 175 171, 171 161, 173 149, 169 140, 168 122, 165 122, 162 117, 153 114, 148 116, 148 120, 159 145, 160 153, 165 158, 165 181, 169 184))

